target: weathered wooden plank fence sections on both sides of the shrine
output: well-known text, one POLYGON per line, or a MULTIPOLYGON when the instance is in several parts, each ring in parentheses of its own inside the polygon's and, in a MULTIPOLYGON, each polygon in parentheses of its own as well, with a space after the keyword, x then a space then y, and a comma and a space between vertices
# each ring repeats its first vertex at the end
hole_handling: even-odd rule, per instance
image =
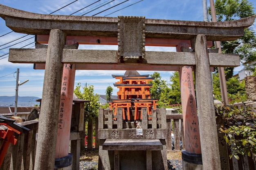
MULTIPOLYGON (((80 106, 83 108, 83 106, 80 106)), ((77 113, 81 116, 83 110, 77 113)), ((83 118, 83 116, 82 116, 83 118)), ((91 120, 88 122, 88 150, 92 149, 92 138, 93 138, 93 121, 95 121, 96 127, 96 147, 99 148, 99 140, 97 137, 98 130, 98 119, 91 120)), ((76 121, 79 122, 79 121, 76 121)), ((166 114, 166 122, 168 129, 168 136, 166 139, 166 147, 167 150, 172 150, 171 144, 171 132, 174 134, 174 149, 180 150, 180 141, 184 144, 184 134, 182 129, 182 114, 171 113, 167 110, 166 114)), ((16 139, 18 139, 16 145, 10 144, 7 150, 7 154, 4 158, 4 162, 0 167, 0 170, 34 170, 34 160, 36 153, 36 133, 38 131, 38 120, 26 121, 20 123, 22 126, 29 128, 30 131, 27 133, 22 133, 20 135, 16 135, 16 139)), ((81 120, 80 123, 81 124, 81 120)), ((83 123, 82 123, 83 124, 83 123)), ((0 127, 0 129, 4 129, 0 127)), ((80 128, 79 128, 80 129, 80 128)), ((85 134, 81 132, 81 129, 77 129, 78 132, 72 132, 70 135, 71 140, 71 153, 73 154, 73 170, 79 169, 79 157, 80 157, 80 144, 81 148, 85 147, 85 134), (80 142, 81 141, 81 142, 80 142)), ((3 139, 0 139, 0 144, 2 144, 3 139)), ((185 146, 182 145, 182 148, 185 146)), ((252 170, 251 167, 254 167, 255 170, 255 161, 252 157, 243 157, 240 160, 231 159, 229 160, 229 170, 252 170)), ((228 169, 227 169, 228 170, 228 169)))

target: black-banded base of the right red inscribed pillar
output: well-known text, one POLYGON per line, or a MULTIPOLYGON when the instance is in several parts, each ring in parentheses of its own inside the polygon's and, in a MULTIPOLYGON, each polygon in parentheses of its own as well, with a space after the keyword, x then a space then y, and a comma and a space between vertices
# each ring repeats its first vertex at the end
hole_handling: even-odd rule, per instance
POLYGON ((183 170, 203 170, 202 155, 182 151, 182 168, 183 170))

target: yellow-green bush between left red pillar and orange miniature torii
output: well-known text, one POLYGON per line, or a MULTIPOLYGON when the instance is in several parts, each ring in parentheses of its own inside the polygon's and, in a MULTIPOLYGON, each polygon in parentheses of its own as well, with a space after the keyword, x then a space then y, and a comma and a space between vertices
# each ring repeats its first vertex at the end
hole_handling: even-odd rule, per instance
POLYGON ((92 85, 82 87, 81 83, 78 83, 74 89, 74 94, 79 97, 79 99, 90 101, 89 103, 85 103, 85 121, 98 117, 98 109, 100 107, 99 95, 94 94, 94 87, 92 85), (81 88, 83 92, 81 92, 81 88))

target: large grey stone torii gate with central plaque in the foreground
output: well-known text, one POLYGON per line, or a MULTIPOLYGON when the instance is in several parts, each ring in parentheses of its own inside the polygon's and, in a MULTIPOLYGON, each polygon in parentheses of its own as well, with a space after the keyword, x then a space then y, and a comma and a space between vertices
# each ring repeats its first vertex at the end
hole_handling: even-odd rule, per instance
POLYGON ((221 169, 217 129, 213 128, 216 119, 210 67, 239 66, 240 60, 238 55, 209 53, 207 41, 236 40, 253 24, 255 15, 229 22, 192 22, 43 15, 0 5, 0 17, 15 32, 49 35, 47 49, 9 51, 10 62, 35 63, 35 68, 45 68, 35 169, 54 168, 63 64, 87 70, 180 71, 182 66, 193 67, 202 166, 204 170, 221 169), (66 49, 66 40, 118 44, 118 50, 66 49), (192 52, 145 51, 145 45, 177 46, 182 42, 188 43, 192 52))

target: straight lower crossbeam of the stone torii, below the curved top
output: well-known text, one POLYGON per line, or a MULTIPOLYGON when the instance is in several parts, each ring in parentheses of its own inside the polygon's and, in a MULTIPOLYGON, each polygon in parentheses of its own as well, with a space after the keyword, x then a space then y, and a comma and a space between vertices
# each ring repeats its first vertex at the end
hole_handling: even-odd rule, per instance
MULTIPOLYGON (((47 49, 10 49, 9 62, 13 63, 45 63, 47 49)), ((193 52, 157 52, 146 51, 145 63, 128 63, 129 70, 163 70, 179 71, 179 66, 195 66, 195 53, 193 52)), ((210 66, 236 67, 240 66, 239 55, 209 53, 210 66)), ((123 63, 119 62, 115 50, 76 50, 63 49, 61 62, 63 64, 77 64, 76 69, 90 70, 126 70, 123 63), (95 67, 96 66, 96 67, 95 67)), ((44 68, 40 68, 44 69, 44 68)))

